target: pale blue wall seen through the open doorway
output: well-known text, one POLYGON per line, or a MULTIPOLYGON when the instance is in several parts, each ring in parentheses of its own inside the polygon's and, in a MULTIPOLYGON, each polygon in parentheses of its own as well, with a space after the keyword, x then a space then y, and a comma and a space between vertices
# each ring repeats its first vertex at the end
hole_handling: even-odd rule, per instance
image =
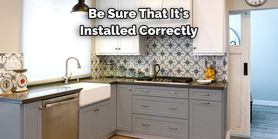
POLYGON ((251 93, 278 101, 278 10, 251 11, 251 93))

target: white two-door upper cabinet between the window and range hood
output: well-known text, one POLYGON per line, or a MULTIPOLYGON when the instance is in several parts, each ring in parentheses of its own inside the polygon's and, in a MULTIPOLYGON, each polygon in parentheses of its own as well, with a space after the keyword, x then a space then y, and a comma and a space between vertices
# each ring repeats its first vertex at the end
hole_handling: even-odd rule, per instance
MULTIPOLYGON (((106 13, 104 19, 96 19, 96 26, 110 27, 119 25, 121 27, 132 27, 133 19, 108 19, 107 10, 136 10, 138 0, 97 0, 96 9, 106 13)), ((145 55, 146 36, 97 36, 96 54, 97 55, 145 55)))

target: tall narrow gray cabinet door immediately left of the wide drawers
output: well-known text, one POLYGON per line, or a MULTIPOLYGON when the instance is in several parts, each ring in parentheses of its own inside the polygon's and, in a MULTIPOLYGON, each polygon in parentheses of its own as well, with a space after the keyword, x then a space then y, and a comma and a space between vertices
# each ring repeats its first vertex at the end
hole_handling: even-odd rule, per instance
POLYGON ((132 85, 117 84, 117 129, 132 131, 132 85))

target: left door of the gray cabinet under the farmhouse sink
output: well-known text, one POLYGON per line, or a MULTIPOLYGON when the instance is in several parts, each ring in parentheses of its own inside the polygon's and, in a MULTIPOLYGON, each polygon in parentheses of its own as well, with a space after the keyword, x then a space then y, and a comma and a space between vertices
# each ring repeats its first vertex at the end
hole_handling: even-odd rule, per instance
POLYGON ((79 109, 78 115, 78 138, 95 139, 96 105, 79 109))

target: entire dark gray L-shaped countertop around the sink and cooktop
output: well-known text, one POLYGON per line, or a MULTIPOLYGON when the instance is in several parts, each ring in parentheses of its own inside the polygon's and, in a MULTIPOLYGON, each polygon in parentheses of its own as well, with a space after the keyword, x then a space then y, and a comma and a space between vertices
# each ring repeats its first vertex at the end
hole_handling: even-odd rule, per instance
MULTIPOLYGON (((164 84, 164 83, 144 83, 134 82, 134 78, 89 78, 80 80, 80 82, 94 82, 94 83, 109 83, 109 84, 131 84, 131 85, 148 85, 148 86, 167 86, 167 87, 184 87, 184 88, 199 88, 199 89, 213 89, 213 90, 225 90, 228 86, 227 82, 212 82, 208 85, 201 85, 197 82, 193 82, 189 85, 181 84, 164 84)), ((77 83, 76 81, 69 82, 77 83)), ((62 87, 65 83, 41 83, 36 85, 28 85, 28 91, 25 92, 14 92, 11 95, 0 96, 0 101, 9 103, 31 103, 39 100, 51 99, 63 95, 69 95, 80 92, 82 88, 74 87, 62 87), (32 87, 31 87, 32 86, 32 87)))

